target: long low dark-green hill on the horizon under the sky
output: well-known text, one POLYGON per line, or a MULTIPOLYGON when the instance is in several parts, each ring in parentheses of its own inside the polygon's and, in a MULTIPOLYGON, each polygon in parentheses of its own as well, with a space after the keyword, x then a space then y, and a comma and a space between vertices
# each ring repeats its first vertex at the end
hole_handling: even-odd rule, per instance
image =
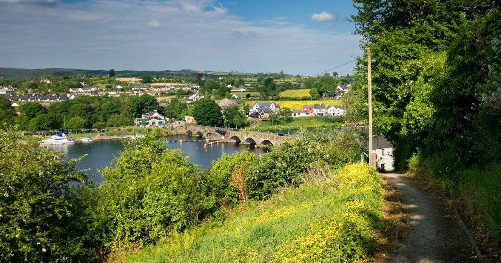
MULTIPOLYGON (((124 70, 124 71, 116 71, 117 77, 140 77, 144 74, 160 74, 160 75, 193 75, 198 73, 199 71, 195 70, 179 70, 179 71, 133 71, 133 70, 124 70)), ((85 74, 90 73, 93 76, 107 76, 107 70, 79 70, 79 69, 12 69, 12 68, 0 68, 0 78, 6 80, 26 80, 26 79, 37 79, 43 77, 61 77, 61 76, 84 76, 85 74)), ((227 75, 228 72, 212 72, 205 71, 205 74, 211 75, 227 75)), ((236 75, 249 75, 250 73, 233 73, 236 75)))

